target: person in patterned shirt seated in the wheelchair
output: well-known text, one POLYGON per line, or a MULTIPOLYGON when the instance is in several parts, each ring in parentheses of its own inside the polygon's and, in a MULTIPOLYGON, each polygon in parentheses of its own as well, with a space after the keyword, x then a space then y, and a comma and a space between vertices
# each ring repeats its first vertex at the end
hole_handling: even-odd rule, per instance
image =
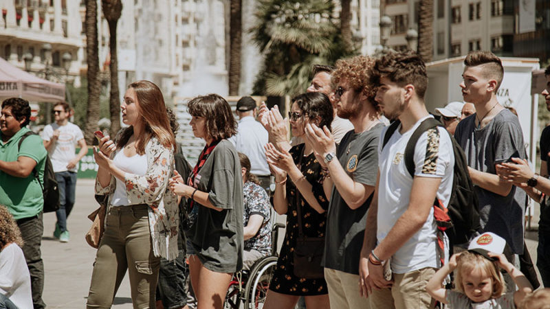
POLYGON ((250 271, 257 260, 271 254, 271 205, 259 179, 250 174, 250 160, 239 152, 243 176, 243 271, 250 271))

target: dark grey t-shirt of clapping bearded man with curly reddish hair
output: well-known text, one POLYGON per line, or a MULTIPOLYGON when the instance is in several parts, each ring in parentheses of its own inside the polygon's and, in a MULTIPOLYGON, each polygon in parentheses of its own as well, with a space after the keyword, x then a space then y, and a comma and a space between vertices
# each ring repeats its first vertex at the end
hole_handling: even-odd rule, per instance
MULTIPOLYGON (((342 137, 336 157, 354 181, 364 185, 376 185, 378 171, 378 140, 384 124, 371 130, 355 133, 349 131, 342 137)), ((373 196, 369 196, 358 209, 351 209, 336 187, 333 187, 327 236, 322 265, 344 273, 359 274, 359 258, 363 244, 367 209, 373 196)))

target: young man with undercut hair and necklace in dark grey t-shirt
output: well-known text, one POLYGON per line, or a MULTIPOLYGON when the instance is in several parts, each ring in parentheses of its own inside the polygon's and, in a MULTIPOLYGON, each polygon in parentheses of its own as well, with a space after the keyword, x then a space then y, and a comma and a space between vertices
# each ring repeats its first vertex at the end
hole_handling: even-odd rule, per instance
POLYGON ((474 104, 476 113, 456 126, 454 138, 466 154, 481 227, 506 240, 514 253, 507 253, 508 258, 518 266, 518 254, 523 253, 525 192, 500 181, 496 164, 511 157, 526 158, 523 133, 518 117, 496 100, 504 76, 500 58, 491 52, 470 52, 464 65, 462 96, 474 104))

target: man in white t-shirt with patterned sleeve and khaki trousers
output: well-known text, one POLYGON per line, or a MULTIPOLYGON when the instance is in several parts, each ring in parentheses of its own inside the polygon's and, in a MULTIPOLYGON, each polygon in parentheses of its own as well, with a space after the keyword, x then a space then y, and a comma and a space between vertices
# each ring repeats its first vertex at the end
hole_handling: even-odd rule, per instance
MULTIPOLYGON (((413 52, 387 54, 376 61, 375 100, 388 119, 401 124, 382 147, 378 146, 375 199, 366 220, 360 259, 362 293, 371 308, 433 308, 426 284, 439 268, 437 225, 433 205, 445 207, 452 190, 454 153, 445 128, 426 130, 415 146, 415 176, 404 161, 406 144, 424 119, 428 86, 426 66, 413 52), (384 263, 391 263, 393 279, 386 281, 384 263)), ((444 254, 444 253, 443 253, 444 254)))

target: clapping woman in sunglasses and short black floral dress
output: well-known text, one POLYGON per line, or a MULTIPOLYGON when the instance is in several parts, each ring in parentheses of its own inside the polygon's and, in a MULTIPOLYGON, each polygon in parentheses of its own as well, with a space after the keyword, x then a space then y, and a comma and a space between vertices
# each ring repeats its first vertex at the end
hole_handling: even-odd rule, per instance
MULTIPOLYGON (((292 100, 289 119, 292 135, 304 137, 308 123, 330 128, 333 108, 327 95, 304 93, 292 100)), ((278 150, 273 144, 266 146, 267 163, 276 181, 274 208, 278 214, 287 215, 287 230, 263 307, 265 309, 294 308, 300 296, 305 297, 307 308, 329 308, 325 278, 306 279, 294 273, 294 251, 300 233, 298 225, 301 224, 304 236, 325 237, 326 210, 329 206, 322 188, 326 174, 314 155, 313 147, 307 139, 305 141, 305 144, 294 146, 289 151, 278 150)))

